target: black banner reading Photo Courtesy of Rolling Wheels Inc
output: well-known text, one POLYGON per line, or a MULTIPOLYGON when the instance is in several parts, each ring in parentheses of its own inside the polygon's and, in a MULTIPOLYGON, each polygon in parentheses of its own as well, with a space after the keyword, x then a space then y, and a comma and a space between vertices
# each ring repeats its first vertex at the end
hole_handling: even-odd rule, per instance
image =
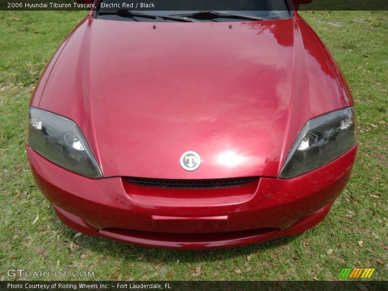
POLYGON ((384 291, 384 281, 2 281, 1 291, 384 291))

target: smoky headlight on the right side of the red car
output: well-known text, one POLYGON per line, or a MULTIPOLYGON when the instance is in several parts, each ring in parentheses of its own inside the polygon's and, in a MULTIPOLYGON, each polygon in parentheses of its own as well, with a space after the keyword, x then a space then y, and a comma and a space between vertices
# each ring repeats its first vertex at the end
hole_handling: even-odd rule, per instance
POLYGON ((354 107, 312 118, 299 132, 279 178, 291 178, 333 161, 356 144, 354 107))

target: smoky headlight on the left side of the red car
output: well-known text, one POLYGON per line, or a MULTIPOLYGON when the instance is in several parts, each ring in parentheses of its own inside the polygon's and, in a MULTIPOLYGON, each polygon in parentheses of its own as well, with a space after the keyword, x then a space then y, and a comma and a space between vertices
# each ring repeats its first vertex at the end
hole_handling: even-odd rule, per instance
POLYGON ((90 178, 102 178, 92 149, 77 124, 63 116, 30 107, 27 143, 49 161, 90 178))

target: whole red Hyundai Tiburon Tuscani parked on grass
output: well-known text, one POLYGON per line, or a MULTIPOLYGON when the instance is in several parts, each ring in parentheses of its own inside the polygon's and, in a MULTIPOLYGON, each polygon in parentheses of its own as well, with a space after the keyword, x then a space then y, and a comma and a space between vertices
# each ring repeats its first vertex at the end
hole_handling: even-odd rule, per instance
POLYGON ((299 3, 273 3, 139 12, 96 2, 29 108, 32 173, 65 224, 206 249, 324 219, 355 160, 353 100, 299 3))

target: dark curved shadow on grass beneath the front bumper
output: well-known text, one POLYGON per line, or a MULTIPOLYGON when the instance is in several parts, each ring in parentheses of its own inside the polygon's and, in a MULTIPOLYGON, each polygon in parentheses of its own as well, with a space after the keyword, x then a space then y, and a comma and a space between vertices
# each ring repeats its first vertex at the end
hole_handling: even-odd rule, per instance
POLYGON ((75 238, 76 230, 62 223, 53 211, 50 223, 61 229, 63 237, 69 242, 78 244, 82 249, 89 249, 94 254, 104 255, 112 259, 144 260, 152 263, 199 263, 214 262, 235 257, 248 256, 252 253, 275 249, 294 241, 297 236, 286 236, 268 242, 259 242, 241 247, 215 250, 172 250, 135 246, 122 242, 115 242, 99 236, 81 235, 75 238))

